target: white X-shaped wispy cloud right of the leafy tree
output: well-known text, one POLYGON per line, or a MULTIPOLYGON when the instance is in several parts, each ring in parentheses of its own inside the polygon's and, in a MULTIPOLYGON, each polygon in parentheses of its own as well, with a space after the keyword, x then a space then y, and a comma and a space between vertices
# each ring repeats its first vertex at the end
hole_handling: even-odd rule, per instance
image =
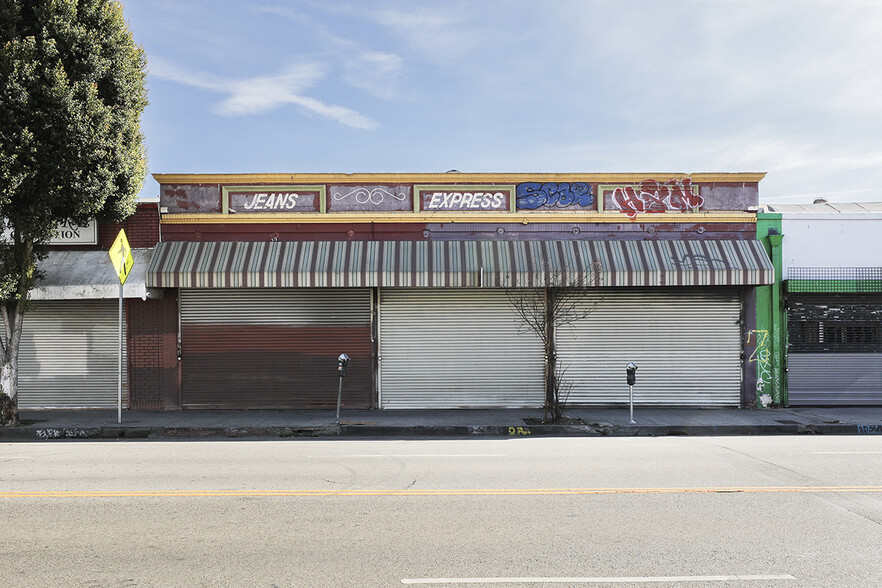
POLYGON ((204 72, 191 72, 161 58, 150 60, 150 75, 208 90, 226 97, 214 105, 213 111, 223 116, 265 114, 293 104, 307 113, 334 120, 357 129, 375 129, 373 119, 344 106, 325 104, 304 95, 325 77, 320 64, 291 65, 275 75, 230 79, 204 72))

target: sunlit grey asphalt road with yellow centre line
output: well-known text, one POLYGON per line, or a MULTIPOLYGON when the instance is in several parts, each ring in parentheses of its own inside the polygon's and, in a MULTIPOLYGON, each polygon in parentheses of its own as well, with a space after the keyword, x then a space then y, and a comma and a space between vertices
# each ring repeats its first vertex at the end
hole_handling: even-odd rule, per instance
POLYGON ((882 438, 0 445, 5 586, 877 586, 882 438))

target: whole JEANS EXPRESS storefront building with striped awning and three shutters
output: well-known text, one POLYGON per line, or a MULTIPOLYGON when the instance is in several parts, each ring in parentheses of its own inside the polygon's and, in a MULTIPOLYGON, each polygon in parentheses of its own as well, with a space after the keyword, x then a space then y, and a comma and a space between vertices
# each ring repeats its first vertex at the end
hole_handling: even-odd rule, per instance
MULTIPOLYGON (((754 406, 763 174, 156 174, 163 408, 754 406), (513 300, 577 287, 546 347, 513 300), (171 327, 171 325, 174 327, 171 327), (163 369, 171 367, 163 364, 163 369)), ((138 400, 134 399, 137 403, 138 400)))

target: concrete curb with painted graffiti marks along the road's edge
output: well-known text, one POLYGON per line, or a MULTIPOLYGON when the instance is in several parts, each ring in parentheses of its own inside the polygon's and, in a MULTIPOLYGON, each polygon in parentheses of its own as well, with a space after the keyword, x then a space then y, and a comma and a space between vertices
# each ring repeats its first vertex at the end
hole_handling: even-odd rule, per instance
POLYGON ((854 424, 775 425, 349 425, 253 427, 8 427, 0 441, 95 439, 298 439, 469 437, 713 437, 763 435, 882 435, 882 427, 854 424))

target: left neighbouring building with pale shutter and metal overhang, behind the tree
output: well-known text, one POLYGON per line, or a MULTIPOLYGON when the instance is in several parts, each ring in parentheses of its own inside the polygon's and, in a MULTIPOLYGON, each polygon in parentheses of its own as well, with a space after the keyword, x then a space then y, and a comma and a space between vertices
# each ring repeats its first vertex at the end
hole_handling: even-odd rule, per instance
MULTIPOLYGON (((19 407, 113 408, 119 389, 119 279, 108 249, 124 228, 135 265, 123 295, 123 402, 155 395, 173 382, 161 370, 149 341, 152 316, 162 291, 146 287, 153 247, 159 241, 158 203, 142 202, 122 224, 91 223, 61 227, 38 268, 42 276, 31 291, 32 309, 24 317, 19 356, 19 407), (145 365, 146 364, 146 365, 145 365)), ((172 317, 174 314, 172 314, 172 317)), ((155 347, 155 349, 154 349, 155 347)), ((172 374, 173 375, 173 374, 172 374)))

